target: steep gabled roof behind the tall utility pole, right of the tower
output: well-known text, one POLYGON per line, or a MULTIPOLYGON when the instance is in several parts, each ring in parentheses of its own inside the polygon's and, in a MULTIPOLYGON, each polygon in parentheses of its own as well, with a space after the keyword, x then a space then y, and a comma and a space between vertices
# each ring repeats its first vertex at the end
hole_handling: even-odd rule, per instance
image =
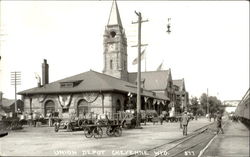
MULTIPOLYGON (((148 90, 165 90, 167 88, 170 70, 148 71, 141 73, 144 87, 148 90)), ((137 73, 129 73, 129 82, 137 82, 137 73)))

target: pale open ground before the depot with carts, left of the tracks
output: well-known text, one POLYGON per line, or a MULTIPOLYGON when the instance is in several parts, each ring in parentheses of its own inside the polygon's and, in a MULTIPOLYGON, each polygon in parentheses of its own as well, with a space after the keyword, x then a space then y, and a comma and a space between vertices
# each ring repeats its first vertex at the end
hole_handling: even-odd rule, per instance
MULTIPOLYGON (((188 126, 188 134, 208 125, 205 118, 192 120, 188 126)), ((28 127, 19 131, 11 131, 1 138, 1 155, 3 156, 129 156, 139 154, 148 156, 146 150, 182 138, 179 123, 163 125, 148 123, 143 129, 123 129, 121 137, 108 137, 103 129, 101 139, 86 138, 83 131, 54 132, 53 127, 28 127)), ((167 155, 164 150, 155 154, 167 155)))

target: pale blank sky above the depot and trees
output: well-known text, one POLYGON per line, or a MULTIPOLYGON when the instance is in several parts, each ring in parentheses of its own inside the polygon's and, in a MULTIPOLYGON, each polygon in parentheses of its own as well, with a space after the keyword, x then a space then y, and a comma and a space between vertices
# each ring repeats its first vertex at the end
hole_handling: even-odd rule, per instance
MULTIPOLYGON (((240 100, 249 88, 247 1, 117 1, 128 40, 128 71, 137 71, 138 25, 146 47, 142 71, 171 69, 191 97, 240 100), (168 18, 171 33, 168 34, 168 18)), ((17 91, 37 86, 47 59, 53 82, 90 69, 103 70, 103 34, 112 1, 1 1, 0 91, 14 98, 10 73, 21 72, 17 91)), ((144 49, 144 48, 143 48, 144 49)), ((20 97, 19 97, 20 98, 20 97)))

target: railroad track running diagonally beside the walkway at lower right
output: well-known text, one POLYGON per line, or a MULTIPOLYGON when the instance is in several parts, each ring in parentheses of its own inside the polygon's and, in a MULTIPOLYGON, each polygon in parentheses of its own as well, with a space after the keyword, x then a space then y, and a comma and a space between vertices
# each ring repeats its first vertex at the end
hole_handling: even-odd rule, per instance
MULTIPOLYGON (((224 123, 225 126, 226 122, 224 123)), ((223 127, 224 127, 223 126, 223 127)), ((188 136, 172 140, 170 142, 158 145, 156 147, 146 149, 147 156, 168 156, 168 157, 182 157, 182 156, 198 156, 200 150, 206 147, 207 143, 213 139, 216 134, 216 123, 205 125, 188 136)), ((132 154, 128 157, 140 157, 145 155, 132 154)))

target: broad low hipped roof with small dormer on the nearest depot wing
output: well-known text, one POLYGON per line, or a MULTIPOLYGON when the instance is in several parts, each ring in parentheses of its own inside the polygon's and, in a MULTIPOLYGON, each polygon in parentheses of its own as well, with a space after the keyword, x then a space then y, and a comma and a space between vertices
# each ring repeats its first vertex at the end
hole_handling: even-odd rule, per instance
MULTIPOLYGON (((28 89, 18 94, 52 94, 52 93, 78 93, 78 92, 93 92, 93 91, 120 91, 130 92, 136 94, 136 85, 117 79, 115 77, 98 73, 95 71, 84 72, 72 77, 68 77, 62 80, 58 80, 43 87, 36 87, 28 89), (61 87, 62 83, 78 82, 74 87, 61 87)), ((158 96, 155 93, 143 90, 143 96, 154 97, 157 99, 168 100, 167 97, 158 96)))

